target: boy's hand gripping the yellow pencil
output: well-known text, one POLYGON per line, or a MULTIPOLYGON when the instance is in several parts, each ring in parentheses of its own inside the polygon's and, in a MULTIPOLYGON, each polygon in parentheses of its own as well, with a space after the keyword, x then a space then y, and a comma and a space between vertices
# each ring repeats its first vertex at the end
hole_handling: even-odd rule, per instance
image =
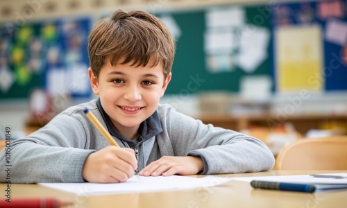
POLYGON ((87 182, 117 183, 134 175, 137 160, 134 150, 108 146, 85 159, 82 176, 87 182))

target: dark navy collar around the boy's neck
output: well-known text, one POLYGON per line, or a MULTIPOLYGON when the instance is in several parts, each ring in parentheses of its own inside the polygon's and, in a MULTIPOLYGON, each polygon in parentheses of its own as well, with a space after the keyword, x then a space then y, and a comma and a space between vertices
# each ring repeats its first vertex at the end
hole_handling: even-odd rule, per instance
MULTIPOLYGON (((98 98, 98 100, 96 101, 96 106, 99 108, 101 116, 103 117, 103 121, 105 121, 110 134, 114 137, 117 137, 118 139, 126 141, 129 144, 129 146, 133 148, 136 145, 135 142, 121 135, 117 128, 115 128, 115 126, 112 124, 110 116, 108 116, 105 110, 103 110, 100 98, 98 98)), ((162 124, 160 122, 157 110, 155 110, 155 112, 151 116, 149 116, 148 119, 142 121, 142 123, 139 125, 139 130, 137 130, 137 132, 139 134, 138 141, 141 142, 162 132, 162 124)))

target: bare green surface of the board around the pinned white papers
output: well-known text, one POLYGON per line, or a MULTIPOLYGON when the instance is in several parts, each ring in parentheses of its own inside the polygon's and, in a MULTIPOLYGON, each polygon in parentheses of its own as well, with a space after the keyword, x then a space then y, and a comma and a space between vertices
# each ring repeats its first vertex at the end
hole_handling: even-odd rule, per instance
MULTIPOLYGON (((264 17, 261 12, 266 10, 265 6, 238 6, 238 8, 244 11, 246 24, 269 29, 269 17, 264 17)), ((206 12, 210 9, 175 10, 154 14, 158 17, 172 17, 181 31, 180 37, 176 40, 177 49, 172 68, 173 77, 166 94, 194 94, 211 91, 239 92, 239 83, 243 76, 271 75, 269 44, 266 45, 266 58, 251 73, 242 70, 239 66, 235 66, 232 71, 220 71, 218 73, 213 73, 208 69, 205 60, 204 34, 207 31, 206 12)), ((241 34, 242 31, 239 33, 241 34)))

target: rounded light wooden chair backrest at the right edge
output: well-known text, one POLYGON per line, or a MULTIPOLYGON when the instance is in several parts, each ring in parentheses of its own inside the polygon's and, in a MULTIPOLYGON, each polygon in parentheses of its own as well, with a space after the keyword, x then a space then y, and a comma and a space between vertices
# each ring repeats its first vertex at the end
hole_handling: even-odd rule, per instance
POLYGON ((347 170, 347 136, 301 139, 282 148, 277 170, 347 170))

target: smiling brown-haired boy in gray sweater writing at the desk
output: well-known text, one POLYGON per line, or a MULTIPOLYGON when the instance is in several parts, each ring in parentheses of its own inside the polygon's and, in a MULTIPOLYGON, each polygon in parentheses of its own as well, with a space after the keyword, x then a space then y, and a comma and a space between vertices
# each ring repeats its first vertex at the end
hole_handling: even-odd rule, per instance
MULTIPOLYGON (((175 42, 141 10, 118 10, 90 33, 88 75, 97 100, 69 107, 44 128, 12 142, 11 182, 124 182, 139 175, 267 171, 274 158, 259 140, 214 128, 160 105, 175 42), (90 123, 88 107, 119 146, 90 123)), ((5 167, 5 152, 0 154, 5 167)), ((0 171, 0 182, 6 171, 0 171)))

